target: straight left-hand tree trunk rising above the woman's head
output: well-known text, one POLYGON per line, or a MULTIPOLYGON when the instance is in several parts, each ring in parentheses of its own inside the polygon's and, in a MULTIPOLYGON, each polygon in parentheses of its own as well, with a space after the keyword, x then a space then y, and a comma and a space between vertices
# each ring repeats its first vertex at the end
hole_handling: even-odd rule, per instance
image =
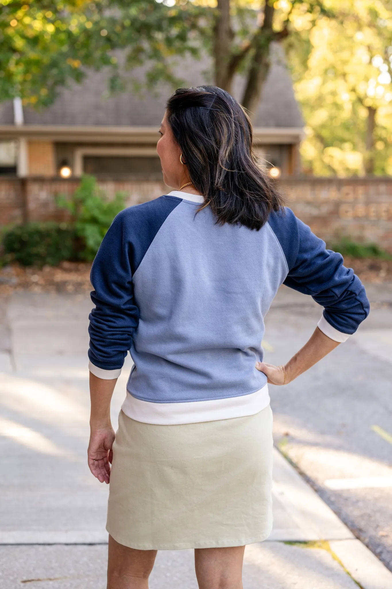
POLYGON ((233 31, 230 23, 230 0, 217 0, 217 17, 214 27, 215 37, 215 84, 230 92, 232 75, 229 63, 232 55, 233 31))

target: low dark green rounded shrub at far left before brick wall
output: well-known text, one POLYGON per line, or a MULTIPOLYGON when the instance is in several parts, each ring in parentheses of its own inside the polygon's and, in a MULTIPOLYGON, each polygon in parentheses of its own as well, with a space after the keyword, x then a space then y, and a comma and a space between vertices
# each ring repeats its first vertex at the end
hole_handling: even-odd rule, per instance
POLYGON ((75 228, 69 223, 17 225, 6 231, 2 247, 5 262, 23 266, 57 266, 77 257, 75 228))

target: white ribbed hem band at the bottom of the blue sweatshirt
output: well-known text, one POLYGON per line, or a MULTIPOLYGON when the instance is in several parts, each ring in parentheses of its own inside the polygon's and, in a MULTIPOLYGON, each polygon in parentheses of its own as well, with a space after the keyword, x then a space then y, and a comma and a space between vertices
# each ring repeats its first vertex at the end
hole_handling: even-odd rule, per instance
POLYGON ((121 408, 125 415, 135 421, 155 425, 180 425, 255 415, 263 411, 269 403, 268 385, 264 385, 260 391, 250 395, 185 403, 141 401, 127 392, 121 408))

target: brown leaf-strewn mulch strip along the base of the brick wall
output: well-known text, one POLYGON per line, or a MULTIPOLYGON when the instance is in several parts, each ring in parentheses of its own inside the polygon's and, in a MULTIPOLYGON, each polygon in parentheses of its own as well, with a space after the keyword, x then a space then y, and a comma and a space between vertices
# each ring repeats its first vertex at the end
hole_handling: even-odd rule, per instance
MULTIPOLYGON (((392 260, 346 257, 344 265, 354 269, 365 283, 392 282, 392 260)), ((23 267, 11 264, 0 269, 0 294, 18 291, 49 293, 85 293, 90 283, 90 263, 62 262, 57 267, 23 267)))

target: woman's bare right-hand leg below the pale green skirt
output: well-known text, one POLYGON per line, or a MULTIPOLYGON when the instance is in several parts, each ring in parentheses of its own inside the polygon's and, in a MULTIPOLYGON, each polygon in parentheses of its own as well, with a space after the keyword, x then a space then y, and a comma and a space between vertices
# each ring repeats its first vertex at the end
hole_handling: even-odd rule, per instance
POLYGON ((243 589, 244 546, 195 548, 195 571, 199 589, 243 589))

